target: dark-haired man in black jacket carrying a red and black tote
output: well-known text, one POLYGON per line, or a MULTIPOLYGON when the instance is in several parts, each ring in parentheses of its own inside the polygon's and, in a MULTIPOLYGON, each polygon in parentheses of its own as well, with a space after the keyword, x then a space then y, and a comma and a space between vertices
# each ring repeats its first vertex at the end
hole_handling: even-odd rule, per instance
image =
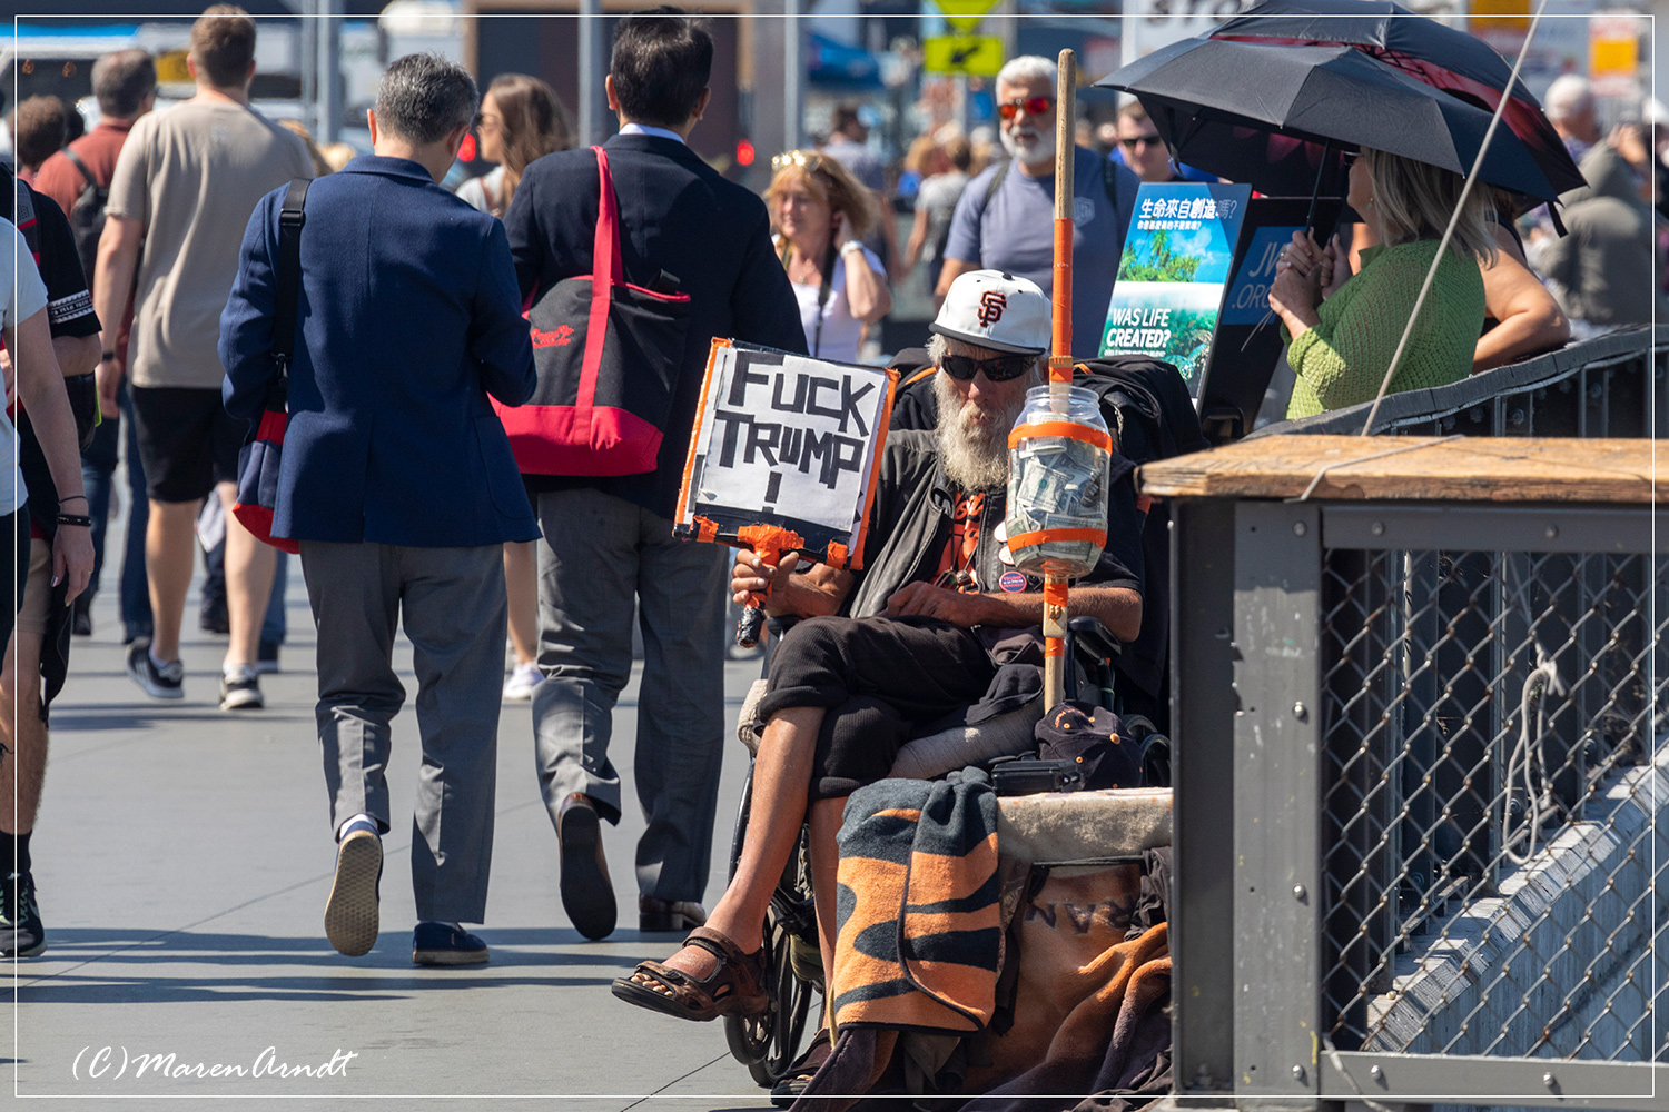
POLYGON ((638 924, 684 930, 706 919, 726 559, 674 540, 673 512, 713 337, 806 350, 764 203, 686 145, 708 105, 713 40, 681 17, 663 7, 621 22, 606 82, 619 135, 536 160, 504 217, 521 292, 534 298, 541 377, 534 403, 506 415, 544 532, 539 785, 561 845, 562 907, 587 939, 616 917, 599 820, 621 814, 608 745, 634 605, 644 642, 634 777, 648 819, 638 924), (604 313, 606 337, 587 328, 604 313), (579 368, 581 348, 589 370, 557 397, 551 368, 579 368), (643 412, 644 392, 663 398, 656 413, 643 412))

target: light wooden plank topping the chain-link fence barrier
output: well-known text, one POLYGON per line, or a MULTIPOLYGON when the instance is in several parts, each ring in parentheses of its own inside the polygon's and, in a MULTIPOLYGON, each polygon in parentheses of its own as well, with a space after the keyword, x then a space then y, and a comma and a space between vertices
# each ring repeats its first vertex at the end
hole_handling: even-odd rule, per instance
POLYGON ((1651 503, 1652 440, 1322 437, 1242 440, 1145 465, 1165 498, 1651 503))

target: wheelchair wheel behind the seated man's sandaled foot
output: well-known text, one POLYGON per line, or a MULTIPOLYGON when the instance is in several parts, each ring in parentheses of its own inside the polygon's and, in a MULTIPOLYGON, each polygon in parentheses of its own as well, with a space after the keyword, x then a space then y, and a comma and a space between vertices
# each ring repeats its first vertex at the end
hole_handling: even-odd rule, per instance
MULTIPOLYGON (((731 844, 731 875, 736 874, 736 860, 741 855, 743 839, 748 835, 748 810, 753 797, 753 774, 743 787, 741 812, 736 815, 736 839, 731 844)), ((729 1044, 731 1057, 748 1067, 753 1080, 771 1089, 788 1075, 788 1067, 799 1057, 799 1044, 806 1034, 806 1017, 811 1014, 811 995, 818 985, 794 975, 793 950, 796 945, 814 949, 818 939, 816 914, 811 907, 811 872, 806 844, 806 830, 799 830, 799 842, 783 879, 771 895, 771 907, 764 915, 764 990, 771 1005, 759 1015, 726 1015, 724 1040, 729 1044)))

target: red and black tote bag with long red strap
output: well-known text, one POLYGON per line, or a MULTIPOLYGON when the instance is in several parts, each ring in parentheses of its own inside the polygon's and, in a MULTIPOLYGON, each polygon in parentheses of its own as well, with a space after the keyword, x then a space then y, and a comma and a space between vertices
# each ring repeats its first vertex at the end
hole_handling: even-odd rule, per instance
POLYGON ((591 273, 564 278, 527 310, 539 382, 524 405, 492 407, 527 475, 638 475, 656 468, 684 360, 689 295, 626 282, 619 203, 598 157, 591 273))

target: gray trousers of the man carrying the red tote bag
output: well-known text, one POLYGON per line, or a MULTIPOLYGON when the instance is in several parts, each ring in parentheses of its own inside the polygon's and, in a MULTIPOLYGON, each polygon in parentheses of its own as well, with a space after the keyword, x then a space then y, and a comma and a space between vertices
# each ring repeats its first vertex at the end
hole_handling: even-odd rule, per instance
POLYGON ((724 755, 724 584, 718 545, 673 540, 673 522, 599 490, 539 495, 539 669, 532 724, 539 789, 556 810, 584 792, 619 822, 609 762, 614 700, 643 630, 633 779, 648 829, 638 890, 701 900, 724 755))

